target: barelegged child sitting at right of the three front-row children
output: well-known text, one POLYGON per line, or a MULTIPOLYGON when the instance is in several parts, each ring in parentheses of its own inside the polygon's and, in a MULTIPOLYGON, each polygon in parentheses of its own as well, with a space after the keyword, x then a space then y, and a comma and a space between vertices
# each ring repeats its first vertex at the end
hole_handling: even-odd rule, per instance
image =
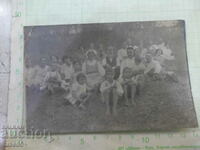
POLYGON ((136 82, 133 78, 132 69, 125 67, 119 79, 124 90, 125 105, 135 104, 136 82))

